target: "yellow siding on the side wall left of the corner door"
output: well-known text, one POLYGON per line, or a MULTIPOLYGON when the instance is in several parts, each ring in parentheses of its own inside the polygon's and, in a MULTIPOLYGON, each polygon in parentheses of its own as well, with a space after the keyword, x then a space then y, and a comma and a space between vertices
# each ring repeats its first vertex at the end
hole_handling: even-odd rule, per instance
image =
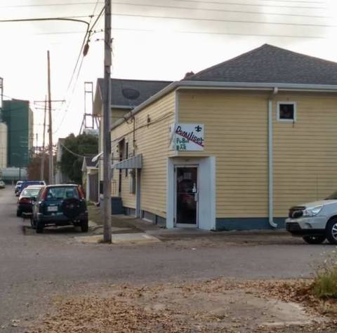
MULTIPOLYGON (((136 114, 135 154, 143 154, 141 176, 141 209, 166 217, 166 173, 169 151, 169 128, 174 122, 175 93, 161 98, 136 114), (147 125, 147 119, 150 124, 147 125)), ((118 141, 128 142, 129 154, 133 151, 133 123, 131 119, 112 130, 112 151, 118 156, 118 141)), ((118 192, 118 172, 114 170, 115 189, 118 192)), ((136 208, 136 195, 130 193, 130 176, 122 171, 121 197, 128 208, 136 208)))

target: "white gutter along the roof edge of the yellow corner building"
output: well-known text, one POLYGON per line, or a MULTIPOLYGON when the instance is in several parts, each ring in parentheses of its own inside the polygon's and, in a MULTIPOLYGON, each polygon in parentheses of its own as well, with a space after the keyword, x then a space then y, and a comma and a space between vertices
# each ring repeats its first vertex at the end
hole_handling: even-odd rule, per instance
POLYGON ((277 86, 278 90, 291 90, 291 91, 308 91, 308 92, 321 92, 332 93, 337 92, 337 85, 323 85, 323 84, 298 84, 298 83, 251 83, 251 82, 221 82, 221 81, 174 81, 160 90, 157 94, 150 97, 145 102, 135 107, 131 112, 126 114, 124 118, 116 121, 111 129, 124 123, 128 118, 138 114, 148 105, 159 100, 164 95, 171 93, 171 91, 179 89, 211 89, 211 90, 270 90, 277 86))

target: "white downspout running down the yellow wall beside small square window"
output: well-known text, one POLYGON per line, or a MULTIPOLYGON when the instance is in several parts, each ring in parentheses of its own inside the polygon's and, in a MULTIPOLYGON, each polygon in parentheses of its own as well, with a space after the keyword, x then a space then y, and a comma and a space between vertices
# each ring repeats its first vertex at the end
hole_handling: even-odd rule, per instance
POLYGON ((269 224, 272 228, 277 228, 277 224, 274 222, 274 170, 272 165, 273 160, 273 144, 272 144, 272 98, 278 93, 277 87, 272 90, 272 93, 268 97, 268 196, 269 196, 269 224))

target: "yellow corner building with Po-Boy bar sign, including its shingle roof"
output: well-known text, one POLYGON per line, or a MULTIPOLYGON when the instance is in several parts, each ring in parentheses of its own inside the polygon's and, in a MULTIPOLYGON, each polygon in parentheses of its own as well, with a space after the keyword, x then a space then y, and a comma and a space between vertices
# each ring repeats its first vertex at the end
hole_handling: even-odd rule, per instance
POLYGON ((337 190, 337 63, 263 45, 166 86, 112 125, 112 195, 173 228, 283 227, 337 190))

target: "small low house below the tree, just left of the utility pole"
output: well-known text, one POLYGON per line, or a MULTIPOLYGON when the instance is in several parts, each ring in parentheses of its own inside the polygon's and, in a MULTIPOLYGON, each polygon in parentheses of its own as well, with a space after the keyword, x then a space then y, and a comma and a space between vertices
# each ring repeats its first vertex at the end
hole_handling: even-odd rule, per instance
POLYGON ((92 160, 92 157, 83 159, 82 185, 86 191, 86 200, 98 203, 98 161, 92 160))

